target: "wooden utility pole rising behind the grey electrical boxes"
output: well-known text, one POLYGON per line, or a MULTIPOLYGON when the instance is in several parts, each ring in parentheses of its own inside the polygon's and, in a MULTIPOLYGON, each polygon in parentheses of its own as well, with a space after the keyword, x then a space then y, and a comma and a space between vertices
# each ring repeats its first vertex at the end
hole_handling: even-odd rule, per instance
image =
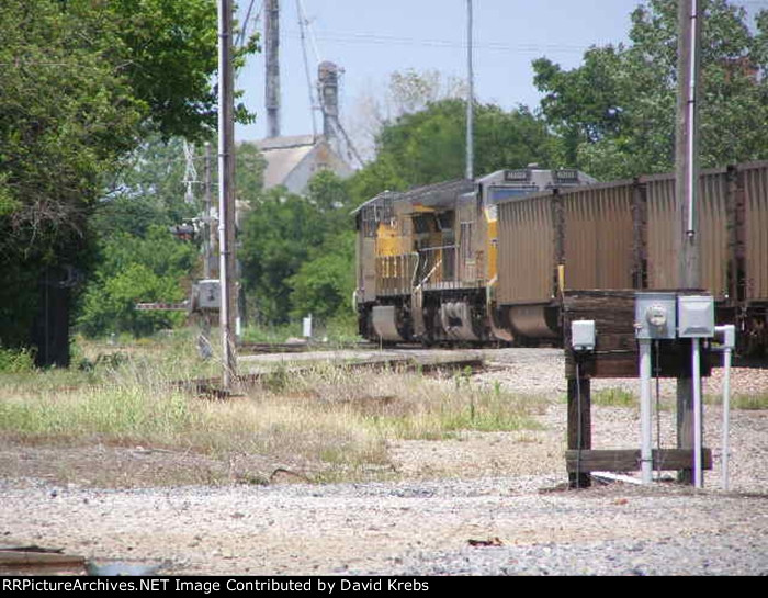
MULTIPOLYGON (((678 1, 678 100, 677 135, 675 148, 676 208, 678 256, 678 286, 698 289, 701 285, 699 271, 699 237, 697 195, 699 192, 698 159, 698 100, 699 100, 699 47, 701 40, 701 14, 698 0, 678 1)), ((701 433, 701 414, 693 408, 692 377, 677 380, 677 442, 680 449, 693 449, 694 437, 701 433)), ((690 484, 691 470, 679 472, 679 481, 690 484)))

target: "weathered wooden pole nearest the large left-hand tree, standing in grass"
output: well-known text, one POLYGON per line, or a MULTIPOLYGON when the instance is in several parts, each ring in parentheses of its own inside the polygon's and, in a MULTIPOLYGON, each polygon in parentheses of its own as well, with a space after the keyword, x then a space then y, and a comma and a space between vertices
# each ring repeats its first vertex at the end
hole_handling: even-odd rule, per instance
POLYGON ((218 247, 222 305, 222 383, 231 390, 237 377, 235 353, 235 102, 233 69, 233 0, 218 0, 218 247))

